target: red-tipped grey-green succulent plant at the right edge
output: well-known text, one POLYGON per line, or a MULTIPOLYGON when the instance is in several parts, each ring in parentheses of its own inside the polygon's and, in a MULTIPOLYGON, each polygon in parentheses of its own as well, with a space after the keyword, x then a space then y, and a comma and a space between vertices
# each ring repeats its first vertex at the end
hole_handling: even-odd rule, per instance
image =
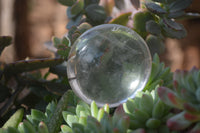
POLYGON ((200 122, 200 71, 195 67, 190 71, 177 70, 173 80, 174 86, 171 89, 158 88, 160 99, 178 110, 176 115, 167 120, 168 127, 173 130, 183 130, 192 126, 191 133, 200 132, 198 124, 200 122))

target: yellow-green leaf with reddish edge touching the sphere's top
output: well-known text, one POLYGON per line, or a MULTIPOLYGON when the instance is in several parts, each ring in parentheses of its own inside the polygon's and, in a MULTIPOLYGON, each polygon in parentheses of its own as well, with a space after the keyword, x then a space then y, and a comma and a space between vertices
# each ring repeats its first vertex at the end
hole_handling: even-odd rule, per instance
POLYGON ((112 19, 109 23, 110 24, 119 24, 126 26, 129 21, 129 17, 131 16, 131 12, 123 13, 119 15, 118 17, 112 19))

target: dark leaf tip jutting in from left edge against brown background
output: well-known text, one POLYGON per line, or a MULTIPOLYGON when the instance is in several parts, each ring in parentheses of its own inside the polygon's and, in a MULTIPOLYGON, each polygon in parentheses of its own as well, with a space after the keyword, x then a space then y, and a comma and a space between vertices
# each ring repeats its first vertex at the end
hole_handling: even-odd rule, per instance
POLYGON ((0 36, 0 55, 5 47, 12 43, 12 37, 10 36, 0 36))

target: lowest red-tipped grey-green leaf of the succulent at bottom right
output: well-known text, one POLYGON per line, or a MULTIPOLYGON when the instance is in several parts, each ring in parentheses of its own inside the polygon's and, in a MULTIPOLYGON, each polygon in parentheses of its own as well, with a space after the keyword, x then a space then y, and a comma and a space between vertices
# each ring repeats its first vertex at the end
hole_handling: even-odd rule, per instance
POLYGON ((167 126, 172 130, 182 130, 189 127, 192 122, 188 121, 184 117, 185 112, 181 112, 167 121, 167 126))

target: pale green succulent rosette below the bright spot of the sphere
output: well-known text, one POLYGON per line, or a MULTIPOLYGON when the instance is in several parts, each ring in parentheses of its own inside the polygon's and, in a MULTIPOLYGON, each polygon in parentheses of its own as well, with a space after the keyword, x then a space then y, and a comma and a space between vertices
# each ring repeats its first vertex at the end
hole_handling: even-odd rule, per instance
POLYGON ((136 97, 129 99, 123 107, 130 118, 129 128, 134 132, 171 132, 166 126, 171 108, 160 100, 156 90, 138 92, 136 97))

